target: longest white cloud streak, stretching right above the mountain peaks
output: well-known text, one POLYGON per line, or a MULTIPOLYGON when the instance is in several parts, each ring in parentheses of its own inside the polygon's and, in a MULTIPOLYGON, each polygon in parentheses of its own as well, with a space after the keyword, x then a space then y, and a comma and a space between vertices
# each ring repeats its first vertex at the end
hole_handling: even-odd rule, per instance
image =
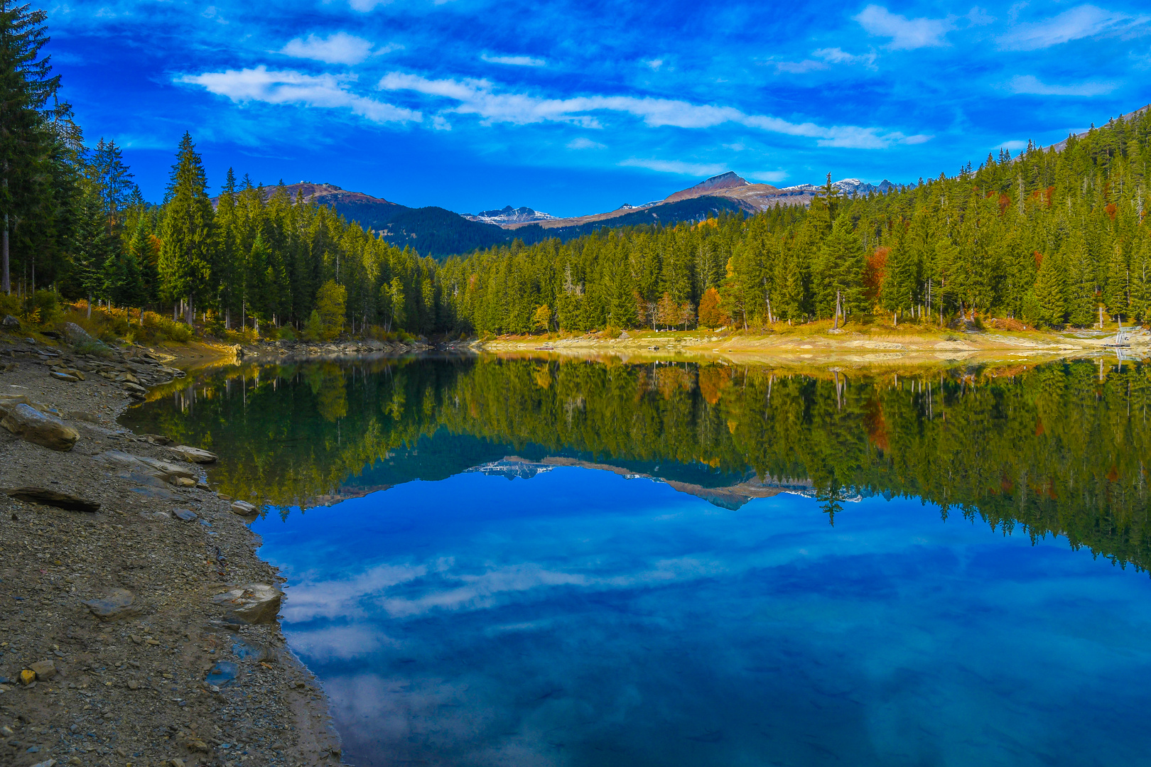
POLYGON ((631 95, 541 99, 526 93, 496 93, 486 79, 428 79, 419 75, 389 72, 380 79, 380 89, 414 91, 458 101, 451 112, 477 115, 486 124, 564 122, 581 128, 601 128, 600 121, 587 113, 619 112, 640 117, 653 128, 712 128, 733 122, 773 133, 814 138, 820 146, 882 148, 893 143, 915 143, 915 137, 900 132, 883 133, 876 128, 792 123, 769 115, 748 115, 734 107, 695 105, 673 99, 631 95))

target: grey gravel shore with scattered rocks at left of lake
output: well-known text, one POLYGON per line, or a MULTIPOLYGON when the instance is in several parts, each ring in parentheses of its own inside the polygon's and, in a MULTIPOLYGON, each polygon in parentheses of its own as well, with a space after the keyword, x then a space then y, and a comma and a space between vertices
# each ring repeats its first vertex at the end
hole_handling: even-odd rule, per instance
POLYGON ((199 465, 115 421, 129 390, 220 352, 144 352, 77 358, 0 336, 0 397, 26 397, 78 432, 60 452, 0 429, 0 764, 336 764, 327 699, 288 650, 277 605, 244 600, 282 582, 258 536, 199 465), (8 494, 28 486, 100 508, 8 494), (241 616, 251 604, 270 614, 241 616))

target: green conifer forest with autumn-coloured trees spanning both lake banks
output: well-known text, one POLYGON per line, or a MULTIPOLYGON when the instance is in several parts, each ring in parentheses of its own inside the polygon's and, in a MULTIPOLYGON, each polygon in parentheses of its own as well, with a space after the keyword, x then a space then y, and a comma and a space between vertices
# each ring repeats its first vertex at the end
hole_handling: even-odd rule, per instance
POLYGON ((887 194, 843 198, 829 176, 806 208, 435 259, 233 170, 213 206, 186 132, 163 200, 145 201, 121 147, 87 141, 60 100, 46 24, 28 7, 0 14, 3 313, 59 298, 279 337, 1151 322, 1145 109, 1059 152, 1000 149, 887 194))

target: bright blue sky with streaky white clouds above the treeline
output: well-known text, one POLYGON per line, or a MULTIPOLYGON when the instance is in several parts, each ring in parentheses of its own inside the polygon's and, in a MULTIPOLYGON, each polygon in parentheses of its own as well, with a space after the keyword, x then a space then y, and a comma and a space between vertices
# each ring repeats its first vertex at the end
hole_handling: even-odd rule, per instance
POLYGON ((1139 2, 110 0, 45 6, 85 136, 162 195, 227 168, 457 212, 645 202, 735 170, 913 182, 1151 101, 1139 2))

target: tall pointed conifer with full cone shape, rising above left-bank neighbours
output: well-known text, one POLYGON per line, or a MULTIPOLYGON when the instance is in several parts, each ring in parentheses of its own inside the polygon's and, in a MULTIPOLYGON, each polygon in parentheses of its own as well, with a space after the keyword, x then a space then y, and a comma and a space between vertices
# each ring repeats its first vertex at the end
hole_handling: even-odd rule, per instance
POLYGON ((191 135, 185 132, 168 183, 159 269, 163 297, 186 301, 184 321, 189 325, 197 296, 208 292, 205 285, 211 284, 214 245, 215 228, 204 164, 191 135))

